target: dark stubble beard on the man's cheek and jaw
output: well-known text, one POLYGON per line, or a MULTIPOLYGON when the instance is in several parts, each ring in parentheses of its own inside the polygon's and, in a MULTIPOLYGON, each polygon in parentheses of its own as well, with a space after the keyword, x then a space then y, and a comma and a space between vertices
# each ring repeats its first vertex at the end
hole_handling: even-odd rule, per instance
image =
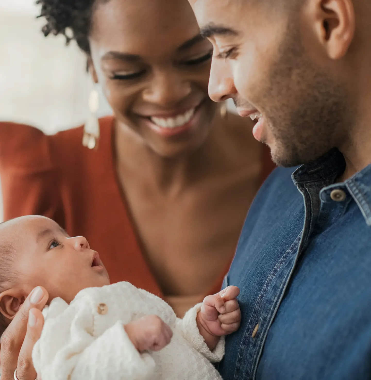
POLYGON ((265 93, 262 104, 267 105, 265 118, 277 165, 308 163, 346 138, 354 112, 346 86, 311 62, 298 31, 287 32, 265 93))

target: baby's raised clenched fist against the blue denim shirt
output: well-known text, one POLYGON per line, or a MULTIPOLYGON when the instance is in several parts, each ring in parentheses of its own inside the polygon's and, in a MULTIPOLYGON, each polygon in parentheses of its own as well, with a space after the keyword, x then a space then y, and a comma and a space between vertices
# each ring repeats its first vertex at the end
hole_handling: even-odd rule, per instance
POLYGON ((237 287, 229 286, 213 296, 207 296, 197 315, 199 327, 201 325, 209 334, 216 337, 237 331, 241 323, 240 306, 236 299, 239 293, 237 287))

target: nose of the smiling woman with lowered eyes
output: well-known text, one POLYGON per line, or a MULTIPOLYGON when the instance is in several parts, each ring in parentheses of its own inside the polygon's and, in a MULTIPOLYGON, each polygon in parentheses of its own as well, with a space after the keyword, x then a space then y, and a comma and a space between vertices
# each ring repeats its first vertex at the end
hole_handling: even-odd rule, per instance
POLYGON ((191 93, 191 82, 179 73, 171 71, 155 73, 150 85, 143 92, 143 100, 159 106, 177 105, 191 93))

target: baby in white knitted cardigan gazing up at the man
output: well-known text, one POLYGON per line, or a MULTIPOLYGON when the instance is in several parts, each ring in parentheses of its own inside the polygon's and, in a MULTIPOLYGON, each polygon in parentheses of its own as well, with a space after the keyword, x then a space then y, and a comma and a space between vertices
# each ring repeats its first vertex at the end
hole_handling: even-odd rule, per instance
POLYGON ((51 219, 0 224, 0 335, 38 285, 49 292, 33 349, 42 380, 220 380, 211 363, 224 355, 223 336, 240 325, 237 287, 206 297, 179 319, 145 290, 109 285, 86 239, 69 237, 51 219))

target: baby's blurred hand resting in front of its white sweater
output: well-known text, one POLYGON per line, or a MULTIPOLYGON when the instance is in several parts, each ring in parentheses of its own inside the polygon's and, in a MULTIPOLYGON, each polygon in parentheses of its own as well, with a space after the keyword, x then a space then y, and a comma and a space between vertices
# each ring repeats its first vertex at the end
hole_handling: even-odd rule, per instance
POLYGON ((124 326, 126 334, 139 352, 158 351, 170 343, 173 332, 157 315, 147 315, 124 326))

